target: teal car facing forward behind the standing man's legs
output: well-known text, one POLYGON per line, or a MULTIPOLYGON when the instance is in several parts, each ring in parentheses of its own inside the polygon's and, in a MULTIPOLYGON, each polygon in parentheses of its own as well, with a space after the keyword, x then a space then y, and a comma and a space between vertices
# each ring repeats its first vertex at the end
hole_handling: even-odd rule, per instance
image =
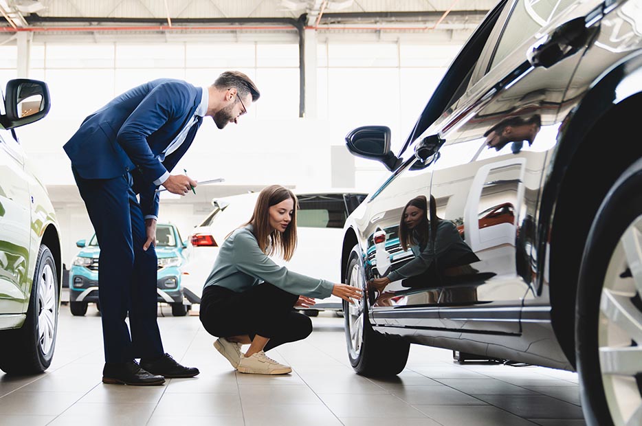
MULTIPOLYGON (((87 305, 96 303, 100 310, 98 299, 98 258, 100 247, 94 234, 87 244, 86 240, 78 240, 76 245, 80 251, 69 271, 69 308, 71 314, 82 316, 87 313, 87 305)), ((181 287, 181 266, 185 262, 182 243, 177 227, 170 223, 156 225, 156 256, 158 258, 156 292, 159 302, 172 306, 172 315, 183 317, 190 305, 183 302, 181 287)))

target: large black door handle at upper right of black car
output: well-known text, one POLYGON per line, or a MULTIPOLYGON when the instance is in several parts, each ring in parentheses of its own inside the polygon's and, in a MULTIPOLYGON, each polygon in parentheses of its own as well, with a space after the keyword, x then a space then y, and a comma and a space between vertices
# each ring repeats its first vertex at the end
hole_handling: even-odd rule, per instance
POLYGON ((563 23, 531 47, 529 63, 533 67, 549 68, 560 60, 575 54, 586 46, 599 29, 599 25, 586 25, 586 17, 579 17, 563 23))

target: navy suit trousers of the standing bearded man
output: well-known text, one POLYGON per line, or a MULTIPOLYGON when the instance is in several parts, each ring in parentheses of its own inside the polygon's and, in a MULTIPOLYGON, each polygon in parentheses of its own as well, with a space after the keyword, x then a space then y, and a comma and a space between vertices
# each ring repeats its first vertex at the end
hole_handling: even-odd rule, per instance
POLYGON ((83 179, 72 167, 80 196, 100 245, 98 298, 106 362, 163 355, 156 322, 157 257, 144 251, 145 220, 129 173, 113 179, 83 179), (125 318, 129 313, 129 325, 125 318))

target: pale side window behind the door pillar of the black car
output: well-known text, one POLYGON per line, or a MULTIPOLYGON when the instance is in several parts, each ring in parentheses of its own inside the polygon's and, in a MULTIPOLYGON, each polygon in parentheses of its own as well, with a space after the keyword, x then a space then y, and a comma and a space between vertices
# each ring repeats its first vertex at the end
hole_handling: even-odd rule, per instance
POLYGON ((497 45, 491 68, 528 38, 535 36, 541 27, 574 2, 575 0, 518 0, 497 45))

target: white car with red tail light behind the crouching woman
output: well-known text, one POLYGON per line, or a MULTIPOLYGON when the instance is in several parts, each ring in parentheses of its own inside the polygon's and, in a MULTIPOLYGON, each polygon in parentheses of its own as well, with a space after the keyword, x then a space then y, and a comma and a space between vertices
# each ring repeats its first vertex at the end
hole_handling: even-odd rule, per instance
MULTIPOLYGON (((335 269, 341 259, 343 226, 348 215, 366 198, 362 192, 296 192, 299 201, 297 212, 298 243, 294 257, 287 263, 275 262, 307 276, 340 282, 341 271, 335 269)), ((237 227, 245 224, 254 210, 258 193, 234 195, 212 200, 214 210, 188 236, 187 258, 183 268, 183 285, 196 295, 201 295, 214 259, 223 240, 237 227)), ((319 311, 340 312, 340 298, 331 296, 317 300, 307 315, 319 311)))

